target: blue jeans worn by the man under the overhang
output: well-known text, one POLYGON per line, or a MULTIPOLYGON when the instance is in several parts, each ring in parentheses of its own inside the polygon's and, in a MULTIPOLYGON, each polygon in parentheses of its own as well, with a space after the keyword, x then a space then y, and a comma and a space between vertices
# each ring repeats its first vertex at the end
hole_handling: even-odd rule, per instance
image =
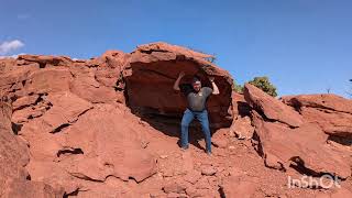
POLYGON ((209 120, 208 120, 208 111, 191 111, 189 109, 186 109, 184 112, 183 121, 180 123, 180 143, 182 147, 187 148, 188 147, 188 127, 189 123, 197 119, 201 124, 202 133, 206 138, 206 147, 207 152, 211 152, 211 136, 210 136, 210 129, 209 129, 209 120))

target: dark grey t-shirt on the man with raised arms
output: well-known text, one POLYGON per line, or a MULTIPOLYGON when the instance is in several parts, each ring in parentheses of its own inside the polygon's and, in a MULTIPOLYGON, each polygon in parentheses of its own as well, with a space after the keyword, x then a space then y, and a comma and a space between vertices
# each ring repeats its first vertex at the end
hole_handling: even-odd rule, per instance
POLYGON ((190 84, 182 84, 179 85, 179 89, 187 98, 188 109, 193 111, 205 110, 207 98, 212 92, 210 87, 202 87, 196 92, 190 84))

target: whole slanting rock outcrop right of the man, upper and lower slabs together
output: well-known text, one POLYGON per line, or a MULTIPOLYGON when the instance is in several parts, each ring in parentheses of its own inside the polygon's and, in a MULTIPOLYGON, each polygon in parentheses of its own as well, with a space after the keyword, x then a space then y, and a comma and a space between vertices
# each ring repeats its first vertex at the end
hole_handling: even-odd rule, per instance
POLYGON ((319 124, 249 84, 244 97, 254 110, 254 139, 267 167, 284 172, 294 167, 314 176, 329 173, 343 179, 351 176, 348 160, 327 144, 328 135, 319 124))

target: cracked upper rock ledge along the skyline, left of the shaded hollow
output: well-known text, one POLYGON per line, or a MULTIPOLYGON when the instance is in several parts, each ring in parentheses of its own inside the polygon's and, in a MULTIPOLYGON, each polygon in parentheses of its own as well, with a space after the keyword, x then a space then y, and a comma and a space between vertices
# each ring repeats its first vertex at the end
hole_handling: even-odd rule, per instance
POLYGON ((0 92, 16 103, 28 102, 22 97, 67 90, 92 103, 124 103, 122 72, 127 57, 109 51, 89 61, 37 55, 23 55, 11 64, 1 61, 0 92))

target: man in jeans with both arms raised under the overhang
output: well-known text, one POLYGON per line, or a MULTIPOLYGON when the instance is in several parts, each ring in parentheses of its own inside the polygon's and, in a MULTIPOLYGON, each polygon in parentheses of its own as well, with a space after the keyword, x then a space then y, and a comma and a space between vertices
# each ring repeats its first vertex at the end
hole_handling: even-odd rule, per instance
POLYGON ((213 77, 209 77, 212 89, 210 87, 201 87, 201 81, 198 77, 194 77, 191 85, 190 84, 179 85, 179 81, 184 76, 185 76, 185 73, 182 72, 174 84, 174 89, 180 90, 183 94, 185 94, 187 98, 187 103, 188 103, 180 123, 182 148, 183 150, 188 148, 188 127, 189 127, 189 123, 196 118, 201 124, 201 129, 206 139, 207 154, 210 155, 211 154, 211 135, 210 135, 210 129, 209 129, 208 111, 206 109, 206 101, 210 95, 219 95, 220 94, 219 88, 215 84, 213 77))

